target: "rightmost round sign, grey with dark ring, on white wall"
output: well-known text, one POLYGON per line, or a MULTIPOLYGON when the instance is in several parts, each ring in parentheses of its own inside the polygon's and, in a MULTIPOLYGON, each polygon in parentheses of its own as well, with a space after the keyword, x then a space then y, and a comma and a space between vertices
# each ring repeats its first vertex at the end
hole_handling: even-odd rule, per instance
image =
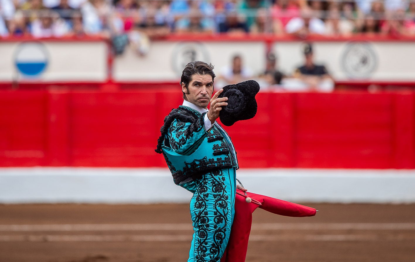
POLYGON ((349 78, 369 78, 377 66, 377 57, 369 43, 349 43, 342 57, 349 78))

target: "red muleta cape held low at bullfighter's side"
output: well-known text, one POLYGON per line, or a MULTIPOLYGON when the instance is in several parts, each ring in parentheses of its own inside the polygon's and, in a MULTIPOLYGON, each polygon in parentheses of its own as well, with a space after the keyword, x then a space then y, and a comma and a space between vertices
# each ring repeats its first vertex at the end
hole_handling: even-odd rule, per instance
POLYGON ((288 201, 283 201, 269 196, 263 196, 247 192, 247 196, 253 199, 251 203, 245 201, 247 196, 242 190, 237 189, 235 197, 235 217, 232 224, 229 242, 220 262, 244 262, 247 256, 249 233, 251 233, 252 213, 256 208, 268 212, 291 217, 313 216, 315 208, 303 206, 288 201), (261 206, 254 203, 259 201, 261 206))

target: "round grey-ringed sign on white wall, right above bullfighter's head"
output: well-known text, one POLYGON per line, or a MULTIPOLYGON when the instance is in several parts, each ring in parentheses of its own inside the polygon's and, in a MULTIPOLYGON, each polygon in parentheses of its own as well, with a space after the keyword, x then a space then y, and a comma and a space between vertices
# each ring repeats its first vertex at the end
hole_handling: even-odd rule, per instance
POLYGON ((182 42, 173 49, 172 62, 173 71, 181 76, 183 68, 193 61, 208 62, 209 54, 206 47, 200 42, 182 42))

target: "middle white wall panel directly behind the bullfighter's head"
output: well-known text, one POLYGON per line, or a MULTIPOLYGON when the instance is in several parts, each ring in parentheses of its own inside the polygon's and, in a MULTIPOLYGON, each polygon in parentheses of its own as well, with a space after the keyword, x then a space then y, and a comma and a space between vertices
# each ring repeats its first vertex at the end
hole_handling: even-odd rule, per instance
POLYGON ((256 76, 264 70, 266 45, 256 42, 155 41, 149 52, 140 56, 131 48, 114 60, 117 81, 176 81, 190 61, 205 61, 215 66, 216 75, 239 54, 243 64, 256 76))

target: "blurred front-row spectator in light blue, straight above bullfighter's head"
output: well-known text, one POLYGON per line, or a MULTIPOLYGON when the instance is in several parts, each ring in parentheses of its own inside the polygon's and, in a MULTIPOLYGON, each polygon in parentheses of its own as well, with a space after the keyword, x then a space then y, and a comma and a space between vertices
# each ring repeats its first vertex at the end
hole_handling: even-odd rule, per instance
POLYGON ((203 17, 197 9, 192 9, 188 15, 176 22, 175 30, 178 33, 213 33, 215 23, 212 19, 203 17))

